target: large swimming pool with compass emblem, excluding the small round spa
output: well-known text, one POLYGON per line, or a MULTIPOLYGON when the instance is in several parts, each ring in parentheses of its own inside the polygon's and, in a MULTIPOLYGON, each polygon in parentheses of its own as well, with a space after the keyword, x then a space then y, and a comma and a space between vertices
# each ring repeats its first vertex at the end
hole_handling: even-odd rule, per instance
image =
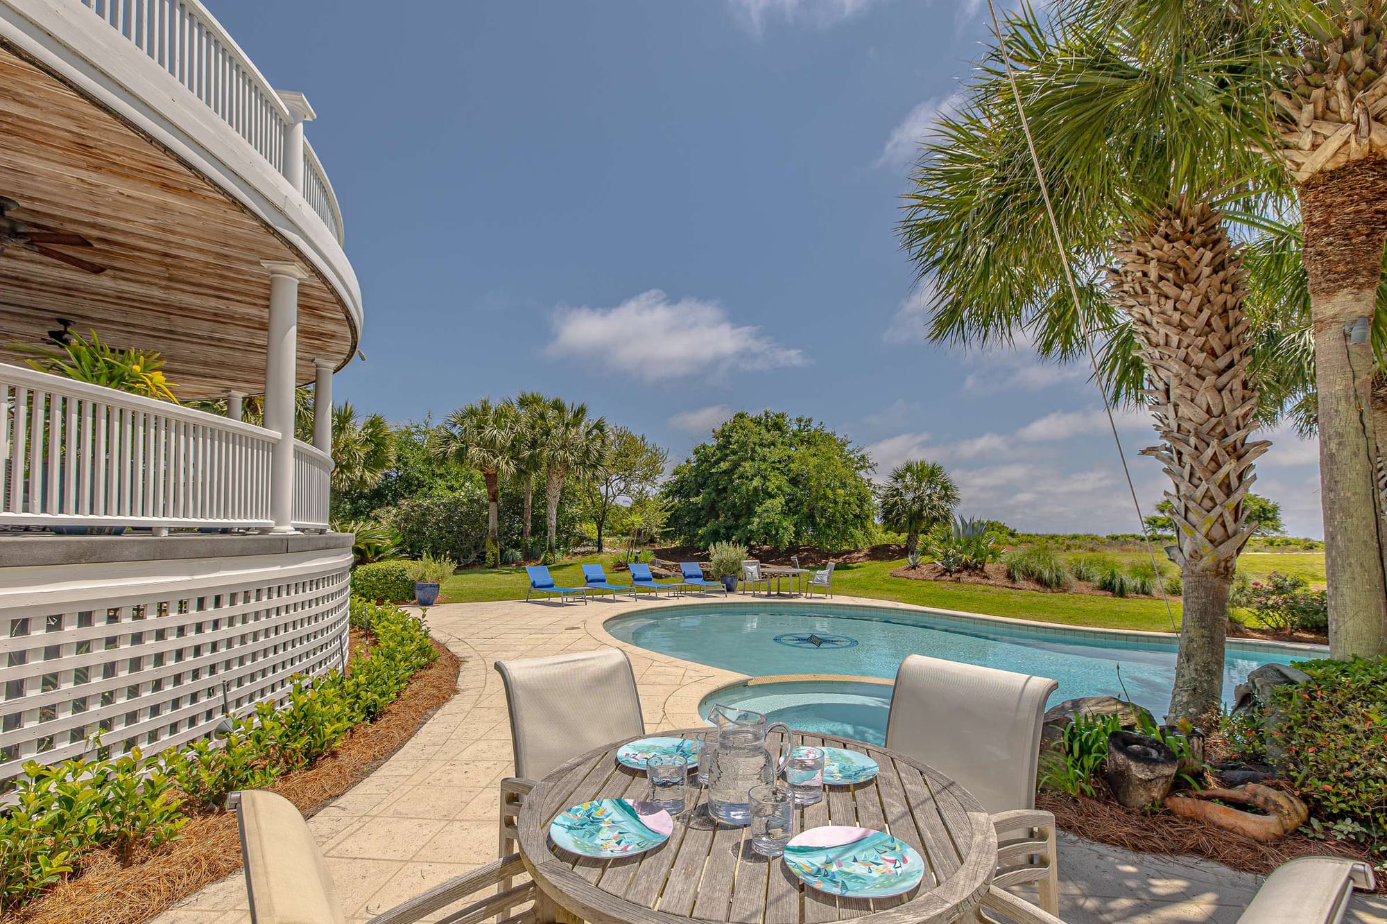
MULTIPOLYGON (((639 648, 750 677, 845 674, 890 680, 902 658, 921 653, 1053 677, 1060 690, 1051 695, 1051 705, 1075 696, 1122 696, 1158 719, 1169 708, 1175 683, 1173 640, 932 610, 799 601, 710 604, 616 616, 605 628, 639 648)), ((1233 687, 1261 665, 1326 655, 1326 649, 1315 647, 1230 640, 1223 699, 1232 702, 1233 687)))

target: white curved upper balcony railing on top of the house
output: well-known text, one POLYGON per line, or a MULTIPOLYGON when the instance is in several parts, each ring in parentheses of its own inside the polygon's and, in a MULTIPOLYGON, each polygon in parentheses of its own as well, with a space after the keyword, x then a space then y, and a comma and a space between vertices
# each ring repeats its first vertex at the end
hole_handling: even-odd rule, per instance
MULTIPOLYGON (((254 147, 290 176, 286 151, 294 117, 198 0, 78 0, 187 87, 254 147)), ((343 243, 343 221, 331 183, 318 157, 304 146, 304 198, 343 243)))

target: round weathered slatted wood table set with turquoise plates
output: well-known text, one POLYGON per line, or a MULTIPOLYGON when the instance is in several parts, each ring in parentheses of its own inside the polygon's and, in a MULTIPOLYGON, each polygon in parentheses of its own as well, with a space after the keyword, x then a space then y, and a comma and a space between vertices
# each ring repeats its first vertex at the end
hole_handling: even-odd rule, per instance
MULTIPOLYGON (((662 733, 694 737, 707 728, 662 733)), ((767 738, 774 751, 779 735, 767 738)), ((827 824, 888 831, 920 852, 924 881, 888 899, 850 899, 802 885, 781 857, 750 846, 750 830, 718 825, 706 789, 689 788, 689 807, 660 846, 598 860, 552 844, 563 809, 603 798, 646 798, 645 773, 616 760, 627 741, 589 751, 546 776, 520 810, 524 866, 538 885, 538 920, 596 924, 945 924, 972 912, 997 864, 997 835, 982 805, 920 762, 877 745, 793 731, 795 745, 828 745, 871 755, 881 773, 852 787, 827 787, 824 801, 795 810, 795 832, 827 824), (552 916, 552 918, 549 917, 552 916)))

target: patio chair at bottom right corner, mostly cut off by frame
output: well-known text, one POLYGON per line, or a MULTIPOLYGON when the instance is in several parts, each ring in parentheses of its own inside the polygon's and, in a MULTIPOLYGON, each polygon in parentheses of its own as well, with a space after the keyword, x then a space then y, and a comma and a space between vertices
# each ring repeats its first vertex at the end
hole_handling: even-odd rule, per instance
MULTIPOLYGON (((1237 924, 1340 924, 1354 889, 1376 888, 1366 863, 1302 856, 1283 863, 1262 882, 1237 924)), ((1014 924, 1064 924, 1025 899, 992 885, 982 896, 989 917, 1014 924)))

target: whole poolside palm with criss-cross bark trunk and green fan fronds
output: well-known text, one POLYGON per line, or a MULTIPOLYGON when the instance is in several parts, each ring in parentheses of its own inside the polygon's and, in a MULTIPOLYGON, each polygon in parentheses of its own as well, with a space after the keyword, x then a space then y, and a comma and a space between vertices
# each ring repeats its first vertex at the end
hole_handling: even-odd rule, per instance
POLYGON ((1165 43, 1062 12, 1046 28, 1029 7, 1004 25, 1078 308, 1054 239, 1037 232, 1049 212, 997 49, 967 105, 939 119, 902 222, 933 287, 932 339, 1025 333, 1071 359, 1096 332, 1108 341, 1104 387, 1137 388, 1151 409, 1162 445, 1146 452, 1173 483, 1184 572, 1169 715, 1191 720, 1221 699, 1227 594, 1254 529, 1243 499, 1268 445, 1248 438, 1244 275, 1219 209, 1275 190, 1243 143, 1257 115, 1233 79, 1259 49, 1196 12, 1165 43))

